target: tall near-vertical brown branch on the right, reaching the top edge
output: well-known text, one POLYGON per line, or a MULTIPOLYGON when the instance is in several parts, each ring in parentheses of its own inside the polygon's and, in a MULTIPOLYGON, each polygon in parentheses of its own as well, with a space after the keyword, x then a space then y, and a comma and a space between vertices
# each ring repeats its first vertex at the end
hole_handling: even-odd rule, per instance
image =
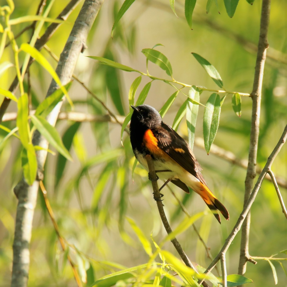
MULTIPOLYGON (((249 145, 247 173, 245 178, 245 194, 244 194, 243 206, 246 205, 246 202, 250 197, 251 191, 253 189, 254 178, 256 176, 261 92, 262 92, 264 64, 266 60, 266 51, 268 48, 267 32, 270 18, 270 5, 271 0, 262 1, 257 59, 255 65, 253 90, 250 94, 252 98, 252 116, 251 116, 250 145, 249 145)), ((243 222, 242 226, 240 258, 238 266, 238 274, 240 275, 245 274, 246 263, 248 261, 247 259, 250 257, 249 256, 250 220, 251 220, 251 214, 249 213, 247 214, 247 218, 243 222)))

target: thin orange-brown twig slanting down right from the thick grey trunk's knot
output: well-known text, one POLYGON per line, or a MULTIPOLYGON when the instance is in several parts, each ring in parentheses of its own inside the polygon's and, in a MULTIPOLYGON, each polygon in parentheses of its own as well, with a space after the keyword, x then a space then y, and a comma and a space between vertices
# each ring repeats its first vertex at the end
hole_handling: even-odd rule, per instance
MULTIPOLYGON (((55 219, 55 216, 54 216, 54 212, 53 212, 53 210, 51 208, 49 199, 47 197, 47 191, 46 191, 42 181, 40 181, 40 188, 41 188, 41 191, 42 191, 42 194, 43 194, 43 197, 44 197, 44 202, 45 202, 45 205, 46 205, 46 209, 47 209, 47 211, 49 213, 49 216, 51 218, 51 221, 53 223, 53 226, 54 226, 55 232, 57 234, 57 237, 59 239, 59 242, 61 244, 61 247, 62 247, 63 251, 65 252, 66 251, 65 240, 60 234, 59 226, 58 226, 58 224, 56 222, 56 219, 55 219)), ((81 282, 80 276, 79 276, 79 274, 77 272, 77 268, 76 268, 75 264, 73 263, 73 261, 71 259, 71 256, 69 254, 67 254, 67 259, 68 259, 69 263, 71 264, 71 267, 72 267, 73 274, 74 274, 75 280, 77 282, 77 285, 79 287, 82 286, 82 282, 81 282)))

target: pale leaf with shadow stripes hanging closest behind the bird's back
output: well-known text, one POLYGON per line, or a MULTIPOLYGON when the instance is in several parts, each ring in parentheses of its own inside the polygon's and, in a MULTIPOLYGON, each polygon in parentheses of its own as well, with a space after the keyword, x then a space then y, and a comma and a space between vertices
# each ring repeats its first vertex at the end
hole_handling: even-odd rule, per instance
POLYGON ((200 90, 196 86, 192 86, 188 93, 187 106, 186 106, 186 123, 187 123, 187 133, 188 133, 188 143, 193 150, 194 137, 195 137, 195 125, 198 114, 200 90))

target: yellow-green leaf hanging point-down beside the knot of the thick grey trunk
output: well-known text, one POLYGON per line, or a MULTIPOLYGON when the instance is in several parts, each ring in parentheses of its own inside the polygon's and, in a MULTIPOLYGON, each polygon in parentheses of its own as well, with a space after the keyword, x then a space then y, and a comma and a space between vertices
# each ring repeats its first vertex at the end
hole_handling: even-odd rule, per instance
POLYGON ((29 185, 32 185, 37 175, 37 159, 34 146, 31 143, 23 149, 21 161, 24 178, 29 185))

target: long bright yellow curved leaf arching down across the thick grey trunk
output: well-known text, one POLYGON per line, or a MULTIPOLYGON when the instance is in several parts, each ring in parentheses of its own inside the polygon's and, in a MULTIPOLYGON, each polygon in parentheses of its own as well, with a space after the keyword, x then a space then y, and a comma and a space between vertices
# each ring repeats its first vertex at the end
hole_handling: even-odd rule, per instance
POLYGON ((51 64, 46 60, 46 58, 37 49, 30 46, 28 43, 22 43, 20 49, 30 54, 31 57, 33 57, 44 69, 46 69, 50 73, 50 75, 53 77, 57 85, 60 87, 60 89, 65 94, 69 104, 73 108, 74 105, 73 105, 73 102, 71 101, 71 98, 69 97, 67 90, 62 85, 61 80, 59 79, 57 73, 55 72, 51 64))

